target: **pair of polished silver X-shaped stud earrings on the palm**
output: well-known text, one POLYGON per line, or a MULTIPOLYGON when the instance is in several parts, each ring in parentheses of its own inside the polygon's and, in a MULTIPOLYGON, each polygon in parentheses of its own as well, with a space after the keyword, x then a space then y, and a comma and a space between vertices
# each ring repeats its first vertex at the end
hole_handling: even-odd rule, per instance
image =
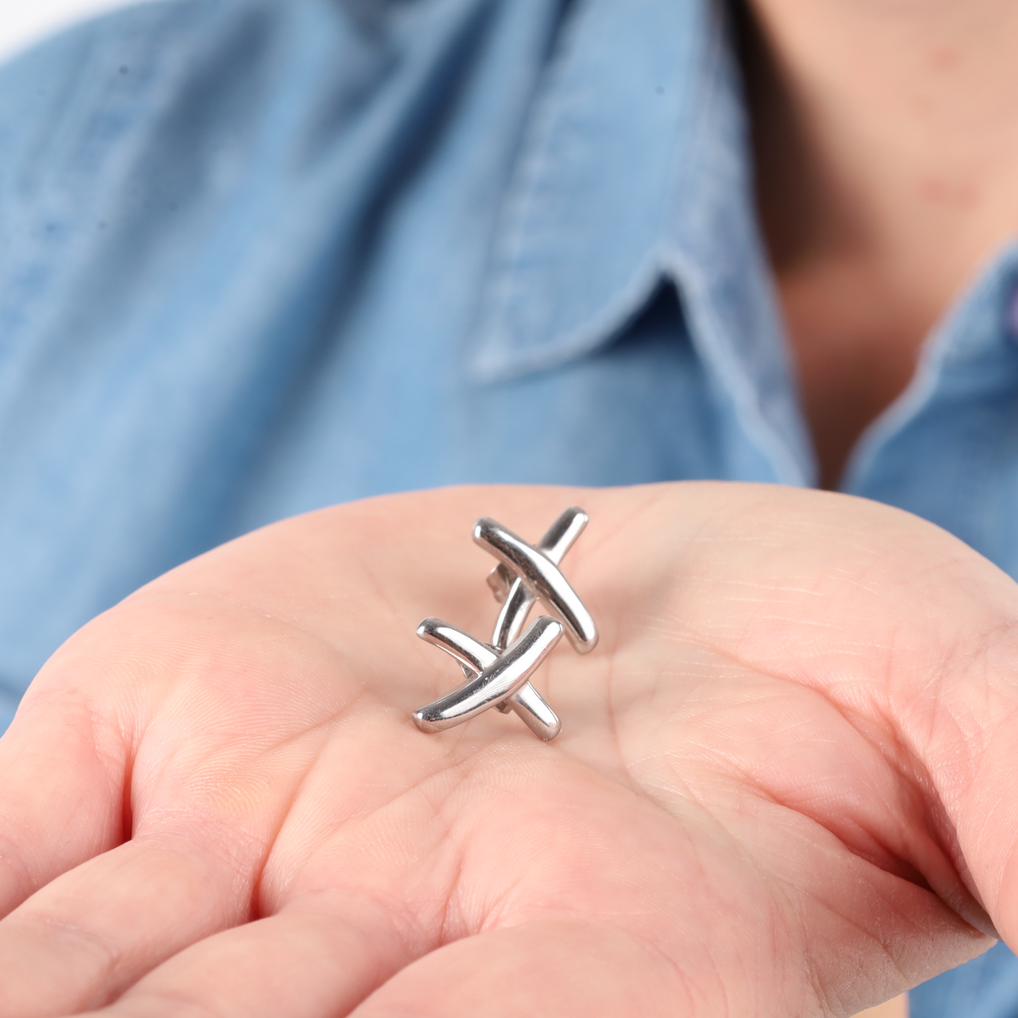
POLYGON ((482 643, 439 619, 425 619, 417 626, 417 635, 452 655, 467 679, 451 693, 413 712, 422 732, 443 732, 494 706, 503 714, 514 711, 539 738, 554 739, 559 734, 562 723, 530 685, 530 676, 563 631, 579 654, 589 654, 598 643, 590 613, 559 569, 587 519, 582 509, 569 508, 536 545, 528 545, 493 519, 485 517, 474 523, 473 540, 499 560, 488 584, 502 603, 502 611, 491 643, 482 643), (524 631, 538 599, 558 618, 539 616, 524 631))

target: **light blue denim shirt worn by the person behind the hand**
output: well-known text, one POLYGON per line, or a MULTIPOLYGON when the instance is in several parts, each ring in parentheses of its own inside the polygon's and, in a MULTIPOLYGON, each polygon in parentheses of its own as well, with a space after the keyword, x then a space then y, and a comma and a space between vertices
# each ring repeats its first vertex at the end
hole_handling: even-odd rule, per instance
MULTIPOLYGON (((843 485, 1012 575, 1016 278, 843 485)), ((282 516, 815 475, 711 0, 176 0, 0 69, 0 729, 77 626, 282 516)), ((915 1018, 1018 1015, 1006 949, 930 985, 915 1018)))

